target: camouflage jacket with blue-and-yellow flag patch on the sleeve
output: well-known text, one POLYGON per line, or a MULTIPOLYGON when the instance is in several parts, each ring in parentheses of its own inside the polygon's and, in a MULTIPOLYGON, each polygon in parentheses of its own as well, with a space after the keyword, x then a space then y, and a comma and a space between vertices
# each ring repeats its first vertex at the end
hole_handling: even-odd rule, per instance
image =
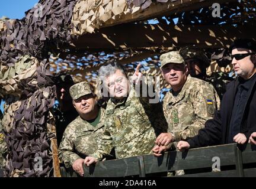
POLYGON ((168 122, 168 132, 175 141, 186 140, 197 135, 206 120, 220 106, 219 96, 214 87, 188 75, 187 82, 177 96, 170 90, 164 97, 163 106, 168 122))

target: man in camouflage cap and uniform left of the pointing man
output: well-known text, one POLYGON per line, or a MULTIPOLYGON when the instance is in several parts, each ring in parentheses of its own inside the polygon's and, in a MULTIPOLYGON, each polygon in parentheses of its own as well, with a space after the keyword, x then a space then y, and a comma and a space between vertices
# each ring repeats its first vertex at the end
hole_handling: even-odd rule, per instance
POLYGON ((84 174, 85 157, 94 154, 103 136, 105 110, 95 100, 94 90, 87 82, 74 84, 69 90, 79 116, 65 129, 59 146, 59 158, 66 168, 84 174))

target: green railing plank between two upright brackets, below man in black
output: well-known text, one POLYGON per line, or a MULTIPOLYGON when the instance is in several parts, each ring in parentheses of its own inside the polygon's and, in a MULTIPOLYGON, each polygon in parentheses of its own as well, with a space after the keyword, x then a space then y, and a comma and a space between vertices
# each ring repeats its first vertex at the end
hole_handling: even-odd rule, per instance
POLYGON ((190 149, 186 152, 166 152, 164 157, 145 155, 146 174, 174 170, 212 167, 213 157, 220 158, 220 165, 235 165, 233 144, 190 149))

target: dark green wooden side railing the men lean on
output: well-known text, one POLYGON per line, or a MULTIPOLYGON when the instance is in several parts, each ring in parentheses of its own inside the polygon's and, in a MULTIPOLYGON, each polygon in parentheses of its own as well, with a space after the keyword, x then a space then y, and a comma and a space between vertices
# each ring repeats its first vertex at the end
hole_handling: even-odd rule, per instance
POLYGON ((141 155, 101 161, 90 167, 84 166, 84 177, 147 177, 157 176, 160 173, 163 175, 162 173, 175 170, 186 172, 186 170, 202 170, 202 168, 210 168, 210 171, 182 176, 256 177, 256 145, 248 144, 245 149, 241 149, 236 144, 228 144, 190 149, 185 152, 165 152, 160 158, 141 155), (218 164, 222 171, 211 171, 212 167, 218 164), (223 171, 223 167, 228 167, 228 170, 223 171))

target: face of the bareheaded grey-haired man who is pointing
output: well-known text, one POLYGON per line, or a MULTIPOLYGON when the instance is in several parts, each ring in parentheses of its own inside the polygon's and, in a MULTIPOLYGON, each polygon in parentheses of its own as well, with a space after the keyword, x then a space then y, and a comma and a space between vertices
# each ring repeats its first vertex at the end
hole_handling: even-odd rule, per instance
POLYGON ((123 99, 123 97, 128 96, 129 81, 120 70, 116 70, 114 74, 108 76, 104 83, 111 97, 123 99))

